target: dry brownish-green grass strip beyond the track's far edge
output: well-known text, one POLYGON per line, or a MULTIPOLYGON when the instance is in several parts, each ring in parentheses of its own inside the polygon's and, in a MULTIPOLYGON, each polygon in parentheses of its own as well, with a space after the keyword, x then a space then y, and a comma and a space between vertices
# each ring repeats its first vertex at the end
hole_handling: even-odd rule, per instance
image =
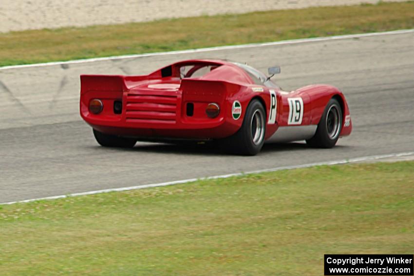
POLYGON ((0 34, 0 66, 414 28, 414 1, 0 34))

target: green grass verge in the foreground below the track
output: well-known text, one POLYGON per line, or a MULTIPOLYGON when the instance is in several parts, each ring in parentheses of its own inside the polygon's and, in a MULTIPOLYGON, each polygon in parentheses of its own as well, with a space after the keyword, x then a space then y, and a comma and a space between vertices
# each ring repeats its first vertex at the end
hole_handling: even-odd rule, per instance
POLYGON ((0 206, 0 275, 322 275, 413 254, 414 162, 318 166, 0 206))

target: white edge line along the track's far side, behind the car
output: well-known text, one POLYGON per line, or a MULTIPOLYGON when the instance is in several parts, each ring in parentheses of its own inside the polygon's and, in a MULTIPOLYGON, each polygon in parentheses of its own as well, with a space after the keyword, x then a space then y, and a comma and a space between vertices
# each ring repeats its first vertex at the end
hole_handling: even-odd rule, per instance
POLYGON ((89 59, 77 59, 77 60, 70 60, 70 61, 56 61, 56 62, 46 62, 46 63, 37 63, 37 64, 13 65, 13 66, 0 67, 0 70, 18 69, 18 68, 27 68, 27 67, 42 67, 42 66, 52 66, 52 65, 60 65, 60 64, 88 63, 88 62, 104 61, 104 60, 120 60, 120 59, 136 58, 136 57, 144 57, 144 56, 201 53, 201 52, 228 50, 228 49, 245 49, 245 48, 252 48, 252 47, 298 44, 298 43, 307 43, 307 42, 316 42, 316 41, 329 41, 329 40, 359 38, 359 37, 376 37, 376 36, 398 35, 398 34, 408 34, 408 33, 414 33, 414 29, 397 30, 397 31, 381 32, 381 33, 367 33, 367 34, 357 34, 357 35, 333 36, 333 37, 302 38, 302 39, 292 39, 292 40, 283 40, 283 41, 275 41, 275 42, 252 43, 252 44, 231 45, 231 46, 219 46, 219 47, 190 49, 190 50, 171 51, 171 52, 158 52, 158 53, 137 54, 137 55, 118 55, 118 56, 97 57, 97 58, 89 58, 89 59))

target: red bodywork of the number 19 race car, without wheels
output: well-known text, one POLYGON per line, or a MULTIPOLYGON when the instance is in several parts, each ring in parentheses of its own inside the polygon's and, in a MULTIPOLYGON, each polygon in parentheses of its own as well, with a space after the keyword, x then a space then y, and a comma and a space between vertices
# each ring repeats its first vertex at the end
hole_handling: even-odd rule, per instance
POLYGON ((221 60, 183 61, 145 76, 81 75, 80 79, 82 118, 94 129, 108 134, 149 140, 225 138, 240 129, 245 110, 253 98, 263 103, 267 113, 265 139, 280 126, 289 126, 299 117, 300 124, 294 122, 292 127, 317 125, 332 97, 338 97, 344 114, 340 135, 349 135, 352 130, 348 105, 338 89, 314 85, 294 92, 282 92, 278 88, 254 84, 244 70, 221 60), (181 78, 179 69, 185 64, 207 64, 211 71, 196 78, 181 78), (276 109, 271 108, 272 94, 276 96, 276 109), (92 99, 100 99, 103 103, 103 110, 97 115, 89 111, 92 99), (295 118, 291 112, 292 99, 297 99, 295 103, 298 106, 301 101, 303 103, 303 113, 296 113, 295 118), (114 101, 122 101, 121 114, 114 113, 114 101), (235 101, 241 104, 242 113, 238 119, 233 117, 235 101), (206 114, 209 103, 220 107, 216 118, 209 118, 206 114), (188 104, 193 105, 190 115, 188 104), (276 112, 273 120, 271 112, 276 112), (345 120, 348 120, 346 124, 345 120))

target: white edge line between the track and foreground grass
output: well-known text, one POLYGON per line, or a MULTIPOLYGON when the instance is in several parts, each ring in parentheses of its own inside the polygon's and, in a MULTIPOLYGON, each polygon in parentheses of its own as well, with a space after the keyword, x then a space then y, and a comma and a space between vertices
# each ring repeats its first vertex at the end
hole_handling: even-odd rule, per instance
POLYGON ((5 202, 5 203, 0 203, 0 205, 23 203, 23 202, 33 202, 33 201, 38 201, 38 200, 63 199, 63 198, 68 198, 68 197, 95 195, 95 194, 102 194, 102 193, 109 193, 109 192, 130 191, 130 190, 138 190, 138 189, 153 188, 153 187, 162 187, 162 186, 169 186, 169 185, 176 185, 176 184, 185 184, 185 183, 194 182, 194 181, 197 181, 197 180, 229 178, 229 177, 233 177, 233 176, 242 176, 242 175, 253 174, 253 173, 272 172, 272 171, 278 171, 278 170, 297 169, 297 168, 307 168, 307 167, 322 166, 322 165, 339 165, 339 164, 364 162, 364 161, 378 160, 378 159, 391 158, 391 157, 403 157, 403 156, 410 156, 410 155, 414 155, 414 151, 401 152, 401 153, 392 153, 392 154, 383 154, 383 155, 364 156, 364 157, 357 157, 357 158, 352 158, 352 159, 327 161, 327 162, 320 162, 320 163, 310 163, 310 164, 297 165, 297 166, 282 166, 282 167, 276 167, 276 168, 254 170, 254 171, 249 171, 249 172, 238 172, 238 173, 230 173, 230 174, 225 174, 225 175, 210 176, 210 177, 205 177, 205 178, 190 178, 190 179, 185 179, 185 180, 170 181, 170 182, 163 182, 163 183, 156 183, 156 184, 146 184, 146 185, 139 185, 139 186, 123 187, 123 188, 112 188, 112 189, 96 190, 96 191, 83 192, 83 193, 74 193, 74 194, 69 194, 69 195, 44 197, 44 198, 29 199, 29 200, 15 201, 15 202, 5 202))

